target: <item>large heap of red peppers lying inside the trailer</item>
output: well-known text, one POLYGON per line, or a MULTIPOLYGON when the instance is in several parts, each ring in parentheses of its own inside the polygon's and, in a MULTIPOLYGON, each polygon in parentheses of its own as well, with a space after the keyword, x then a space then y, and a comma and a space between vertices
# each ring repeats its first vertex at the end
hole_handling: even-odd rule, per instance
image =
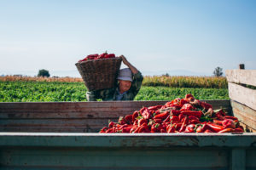
POLYGON ((109 122, 100 133, 243 133, 235 116, 187 94, 165 105, 143 107, 131 115, 109 122))

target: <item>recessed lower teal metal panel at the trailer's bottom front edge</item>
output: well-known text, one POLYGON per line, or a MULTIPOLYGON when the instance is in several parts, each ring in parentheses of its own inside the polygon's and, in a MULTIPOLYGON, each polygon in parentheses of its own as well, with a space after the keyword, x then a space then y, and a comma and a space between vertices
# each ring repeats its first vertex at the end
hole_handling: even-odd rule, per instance
POLYGON ((184 148, 8 148, 6 169, 228 169, 228 150, 184 148), (20 159, 22 157, 22 159, 20 159))

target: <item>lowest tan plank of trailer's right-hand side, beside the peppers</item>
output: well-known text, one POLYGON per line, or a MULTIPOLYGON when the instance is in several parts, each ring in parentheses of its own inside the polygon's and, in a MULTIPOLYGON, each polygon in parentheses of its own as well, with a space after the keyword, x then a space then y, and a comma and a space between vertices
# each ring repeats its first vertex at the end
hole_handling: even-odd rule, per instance
POLYGON ((230 100, 233 114, 238 118, 239 121, 245 123, 248 127, 256 130, 256 111, 247 107, 246 105, 241 105, 240 103, 230 100))

